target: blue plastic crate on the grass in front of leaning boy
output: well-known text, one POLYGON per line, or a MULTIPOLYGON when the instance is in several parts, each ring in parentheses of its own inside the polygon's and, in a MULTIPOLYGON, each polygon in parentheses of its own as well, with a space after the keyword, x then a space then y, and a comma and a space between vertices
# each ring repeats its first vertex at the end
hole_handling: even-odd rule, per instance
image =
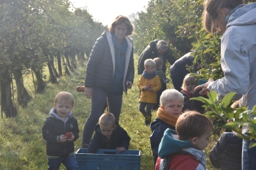
POLYGON ((98 150, 94 154, 81 148, 75 158, 80 170, 140 170, 140 150, 98 150))

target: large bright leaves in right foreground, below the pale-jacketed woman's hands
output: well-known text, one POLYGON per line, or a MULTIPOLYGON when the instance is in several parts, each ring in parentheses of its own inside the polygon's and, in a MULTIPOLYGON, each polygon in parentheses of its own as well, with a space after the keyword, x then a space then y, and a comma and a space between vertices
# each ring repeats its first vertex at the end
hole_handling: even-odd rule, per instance
POLYGON ((246 107, 232 108, 229 105, 235 95, 236 93, 233 92, 227 93, 222 101, 217 101, 217 93, 211 91, 208 93, 209 99, 201 96, 191 99, 206 104, 204 106, 207 110, 206 116, 213 120, 215 135, 220 136, 222 128, 227 128, 236 131, 238 137, 252 142, 250 147, 255 147, 256 144, 252 139, 256 139, 256 105, 252 110, 247 110, 246 107), (248 134, 243 134, 242 128, 249 130, 248 134))

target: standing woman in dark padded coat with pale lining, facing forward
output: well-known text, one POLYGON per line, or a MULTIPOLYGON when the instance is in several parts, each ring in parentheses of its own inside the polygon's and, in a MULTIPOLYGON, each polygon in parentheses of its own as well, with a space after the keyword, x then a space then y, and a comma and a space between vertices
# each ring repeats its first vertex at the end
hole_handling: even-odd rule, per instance
POLYGON ((83 148, 87 148, 91 141, 107 99, 108 111, 113 113, 118 123, 123 92, 127 93, 127 88, 132 88, 135 74, 133 44, 128 37, 132 32, 130 20, 119 15, 91 50, 85 79, 86 96, 91 98, 91 114, 83 128, 83 148))

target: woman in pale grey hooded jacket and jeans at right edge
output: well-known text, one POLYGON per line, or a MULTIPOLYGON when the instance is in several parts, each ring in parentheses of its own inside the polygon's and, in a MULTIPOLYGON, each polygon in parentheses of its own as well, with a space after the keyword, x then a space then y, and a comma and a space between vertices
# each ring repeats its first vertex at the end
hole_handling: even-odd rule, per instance
MULTIPOLYGON (((222 31, 221 65, 225 77, 209 79, 195 90, 200 94, 215 90, 219 98, 236 92, 239 106, 252 109, 256 104, 256 3, 243 0, 207 0, 203 26, 209 33, 222 31)), ((246 132, 244 132, 246 133, 246 132)), ((256 148, 243 142, 242 169, 256 169, 256 148)))

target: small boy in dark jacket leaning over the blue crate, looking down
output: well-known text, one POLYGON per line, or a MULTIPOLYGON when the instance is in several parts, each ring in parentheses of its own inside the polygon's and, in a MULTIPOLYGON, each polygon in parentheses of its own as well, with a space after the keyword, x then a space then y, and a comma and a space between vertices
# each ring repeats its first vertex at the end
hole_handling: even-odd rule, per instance
POLYGON ((110 149, 120 153, 128 150, 130 139, 127 131, 116 123, 114 115, 105 112, 99 117, 99 124, 95 126, 95 134, 87 152, 96 153, 98 149, 110 149))

